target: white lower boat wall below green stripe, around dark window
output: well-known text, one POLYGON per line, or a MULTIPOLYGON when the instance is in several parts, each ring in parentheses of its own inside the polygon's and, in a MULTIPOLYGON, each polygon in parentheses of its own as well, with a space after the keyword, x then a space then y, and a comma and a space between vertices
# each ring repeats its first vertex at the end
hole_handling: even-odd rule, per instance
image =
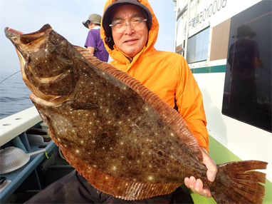
POLYGON ((221 113, 225 73, 195 73, 194 78, 202 91, 209 135, 241 160, 268 162, 263 172, 271 181, 271 133, 221 113))

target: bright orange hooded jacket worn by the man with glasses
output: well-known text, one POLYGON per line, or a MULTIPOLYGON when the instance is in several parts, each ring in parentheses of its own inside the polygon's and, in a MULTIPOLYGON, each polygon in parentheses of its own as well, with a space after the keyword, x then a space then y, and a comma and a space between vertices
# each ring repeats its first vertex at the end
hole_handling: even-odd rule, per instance
MULTIPOLYGON (((114 1, 108 0, 104 11, 114 1)), ((105 48, 113 58, 110 64, 142 82, 150 91, 157 93, 173 108, 176 101, 179 113, 194 133, 199 146, 209 151, 206 116, 202 103, 202 93, 197 86, 197 82, 183 56, 155 49, 154 45, 157 41, 159 23, 149 2, 147 0, 139 0, 139 2, 144 4, 152 14, 152 26, 149 31, 147 45, 130 61, 129 57, 117 49, 115 45, 112 50, 105 43, 105 31, 101 26, 100 36, 104 41, 105 48)))

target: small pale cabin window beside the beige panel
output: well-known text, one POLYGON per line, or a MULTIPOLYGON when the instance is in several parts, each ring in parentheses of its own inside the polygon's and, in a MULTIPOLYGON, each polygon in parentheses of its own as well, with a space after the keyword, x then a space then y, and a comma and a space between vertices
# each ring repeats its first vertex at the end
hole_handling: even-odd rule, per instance
POLYGON ((209 27, 188 39, 187 63, 206 61, 209 49, 209 27))

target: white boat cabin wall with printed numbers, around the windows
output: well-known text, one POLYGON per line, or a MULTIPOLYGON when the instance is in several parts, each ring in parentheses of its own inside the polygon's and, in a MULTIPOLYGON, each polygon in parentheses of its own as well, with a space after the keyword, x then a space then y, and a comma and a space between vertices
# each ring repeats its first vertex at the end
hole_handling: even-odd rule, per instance
MULTIPOLYGON (((252 0, 193 0, 191 2, 177 0, 174 51, 187 59, 189 68, 191 68, 202 91, 209 135, 241 160, 268 162, 268 168, 263 172, 266 173, 266 178, 271 182, 271 131, 258 128, 222 113, 225 76, 229 74, 226 72, 229 39, 232 35, 235 35, 235 32, 230 34, 231 18, 260 2, 252 0), (187 19, 188 10, 189 19, 187 19), (206 49, 206 60, 190 63, 190 59, 185 54, 187 49, 185 42, 207 28, 209 29, 209 45, 204 48, 206 49)), ((225 91, 226 94, 228 93, 225 91)))

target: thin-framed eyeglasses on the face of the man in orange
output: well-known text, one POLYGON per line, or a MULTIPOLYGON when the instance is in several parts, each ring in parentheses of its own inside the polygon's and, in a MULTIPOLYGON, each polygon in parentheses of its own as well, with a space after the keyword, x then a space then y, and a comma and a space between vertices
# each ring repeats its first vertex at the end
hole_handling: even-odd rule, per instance
POLYGON ((117 33, 122 33, 127 29, 127 25, 130 25, 130 28, 132 29, 143 29, 145 27, 145 21, 147 19, 144 19, 142 17, 135 17, 130 19, 130 21, 123 21, 123 20, 117 20, 113 21, 109 26, 112 27, 113 31, 117 33))

